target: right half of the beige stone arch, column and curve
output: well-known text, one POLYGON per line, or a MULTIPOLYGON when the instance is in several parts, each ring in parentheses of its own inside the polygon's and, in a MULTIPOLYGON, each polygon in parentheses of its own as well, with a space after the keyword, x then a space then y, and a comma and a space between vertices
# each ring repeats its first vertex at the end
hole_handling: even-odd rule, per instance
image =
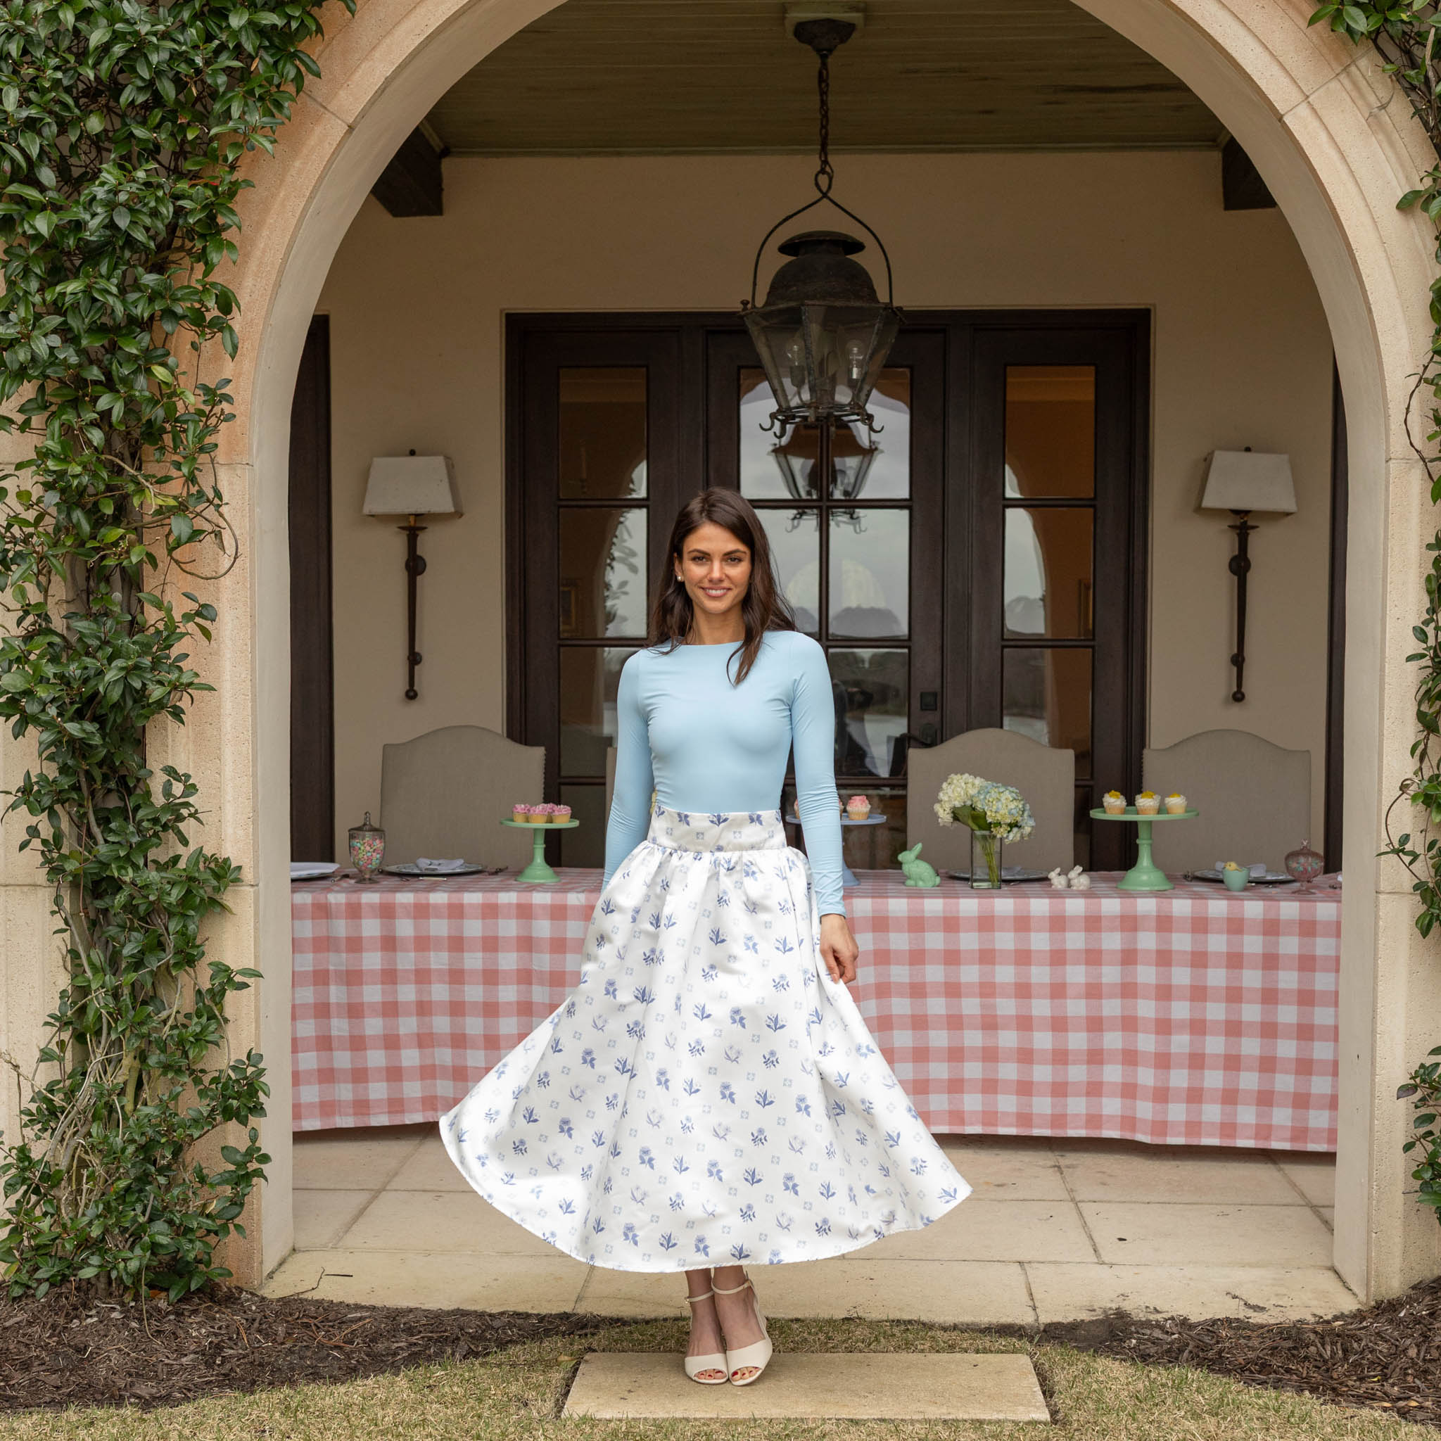
POLYGON ((1222 117, 1291 223, 1334 337, 1346 396, 1352 514, 1346 604, 1346 904, 1334 1265, 1370 1300, 1441 1271, 1441 1228, 1415 1202, 1396 1087, 1441 1040, 1441 945, 1422 942, 1411 878, 1376 860, 1383 813, 1409 772, 1415 676, 1438 517, 1406 438, 1405 405, 1431 343, 1421 301, 1428 228, 1398 197, 1435 160, 1405 98, 1359 49, 1293 0, 1078 0, 1222 117))

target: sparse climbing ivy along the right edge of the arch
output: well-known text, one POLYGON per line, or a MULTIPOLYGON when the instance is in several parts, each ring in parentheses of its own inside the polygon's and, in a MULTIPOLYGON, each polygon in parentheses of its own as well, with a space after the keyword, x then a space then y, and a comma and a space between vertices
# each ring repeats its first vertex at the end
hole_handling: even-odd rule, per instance
MULTIPOLYGON (((1311 24, 1329 24, 1356 45, 1370 43, 1382 66, 1393 75, 1412 114, 1425 127, 1432 148, 1441 157, 1441 16, 1435 4, 1386 3, 1386 0, 1326 0, 1311 16, 1311 24)), ((1431 501, 1441 501, 1441 160, 1431 166, 1398 206, 1419 209, 1437 228, 1437 278, 1431 281, 1431 318, 1435 331, 1431 349, 1421 357, 1406 434, 1431 478, 1431 501)), ((1428 542, 1431 563, 1425 574, 1427 604, 1412 627, 1417 643, 1406 660, 1417 669, 1417 739, 1411 746, 1412 772, 1386 808, 1386 839, 1380 853, 1395 856, 1412 876, 1419 902, 1417 929, 1429 935, 1441 922, 1441 532, 1428 542)), ((1441 1046, 1428 1056, 1441 1056, 1441 1046)), ((1396 1091, 1411 1098, 1415 1115, 1412 1136, 1404 1153, 1421 1148, 1411 1173, 1421 1183, 1419 1200, 1435 1210, 1441 1222, 1441 1061, 1427 1059, 1396 1091)))

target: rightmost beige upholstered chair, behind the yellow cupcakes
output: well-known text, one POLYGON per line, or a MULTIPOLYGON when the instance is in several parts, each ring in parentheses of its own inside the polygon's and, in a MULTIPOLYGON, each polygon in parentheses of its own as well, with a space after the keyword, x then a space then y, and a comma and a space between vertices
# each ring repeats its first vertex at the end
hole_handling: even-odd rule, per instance
POLYGON ((1218 860, 1264 860, 1268 870, 1281 870, 1285 853, 1313 839, 1311 752, 1288 751, 1249 731, 1199 731, 1147 748, 1141 784, 1157 795, 1180 791, 1200 811, 1195 820, 1156 827, 1151 855, 1173 875, 1218 860))

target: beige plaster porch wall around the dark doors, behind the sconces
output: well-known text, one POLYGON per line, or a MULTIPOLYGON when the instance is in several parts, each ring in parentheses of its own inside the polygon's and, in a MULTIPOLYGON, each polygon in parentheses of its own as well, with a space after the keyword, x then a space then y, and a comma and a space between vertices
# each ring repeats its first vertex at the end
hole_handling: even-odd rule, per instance
MULTIPOLYGON (((806 157, 448 160, 445 215, 366 200, 331 317, 337 840, 378 810, 380 745, 503 728, 503 331, 509 310, 733 308, 754 246, 806 195, 806 157), (372 455, 444 452, 465 504, 424 536, 421 696, 405 683, 403 542, 360 514, 372 455)), ((1219 159, 844 156, 837 196, 924 307, 1154 311, 1150 735, 1242 726, 1311 749, 1323 795, 1330 340, 1277 210, 1228 213, 1219 159), (1199 516, 1215 447, 1291 454, 1300 510, 1252 540, 1245 703, 1229 702, 1225 519, 1199 516)), ((1104 558, 1102 558, 1102 563, 1104 558)), ((1104 780, 1104 778, 1102 778, 1104 780)))

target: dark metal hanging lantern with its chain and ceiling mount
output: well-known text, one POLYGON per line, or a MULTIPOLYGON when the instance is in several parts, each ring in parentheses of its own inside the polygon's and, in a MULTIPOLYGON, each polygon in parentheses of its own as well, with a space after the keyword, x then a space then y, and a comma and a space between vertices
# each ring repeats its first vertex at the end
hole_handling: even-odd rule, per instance
POLYGON ((751 298, 742 304, 745 327, 775 396, 771 425, 780 429, 782 442, 793 425, 859 421, 872 427, 866 402, 901 329, 901 311, 892 304, 891 256, 880 236, 830 193, 830 56, 853 32, 846 20, 804 20, 795 26, 795 39, 811 46, 820 61, 818 195, 765 233, 751 271, 751 298), (823 200, 876 242, 886 265, 885 303, 876 297, 870 272, 852 258, 866 248, 863 241, 843 231, 804 231, 780 244, 790 259, 771 278, 765 303, 757 305, 761 255, 771 236, 823 200))

